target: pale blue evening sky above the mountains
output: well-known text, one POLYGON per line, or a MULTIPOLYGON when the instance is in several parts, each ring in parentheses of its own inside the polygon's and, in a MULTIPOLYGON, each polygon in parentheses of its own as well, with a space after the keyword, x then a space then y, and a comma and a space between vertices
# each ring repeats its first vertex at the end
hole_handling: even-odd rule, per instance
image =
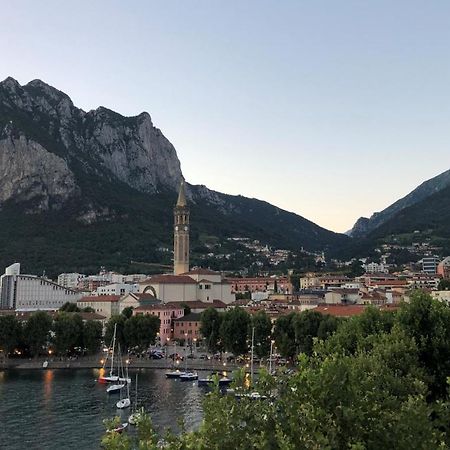
POLYGON ((0 79, 147 111, 187 181, 343 232, 450 169, 450 2, 15 0, 0 79))

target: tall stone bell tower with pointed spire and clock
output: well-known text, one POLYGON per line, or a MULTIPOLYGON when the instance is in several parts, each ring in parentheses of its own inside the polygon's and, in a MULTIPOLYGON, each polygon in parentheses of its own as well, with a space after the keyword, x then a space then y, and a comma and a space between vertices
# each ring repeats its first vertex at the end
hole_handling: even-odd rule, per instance
POLYGON ((184 180, 181 180, 173 217, 173 273, 179 275, 189 272, 189 207, 186 202, 184 180))

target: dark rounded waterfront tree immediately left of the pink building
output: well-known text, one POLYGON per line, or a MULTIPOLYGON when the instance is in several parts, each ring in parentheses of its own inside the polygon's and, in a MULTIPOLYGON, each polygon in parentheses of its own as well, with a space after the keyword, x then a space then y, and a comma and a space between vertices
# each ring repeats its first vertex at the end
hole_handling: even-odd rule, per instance
POLYGON ((160 320, 151 314, 132 316, 125 321, 124 337, 128 348, 145 350, 155 342, 160 320))

